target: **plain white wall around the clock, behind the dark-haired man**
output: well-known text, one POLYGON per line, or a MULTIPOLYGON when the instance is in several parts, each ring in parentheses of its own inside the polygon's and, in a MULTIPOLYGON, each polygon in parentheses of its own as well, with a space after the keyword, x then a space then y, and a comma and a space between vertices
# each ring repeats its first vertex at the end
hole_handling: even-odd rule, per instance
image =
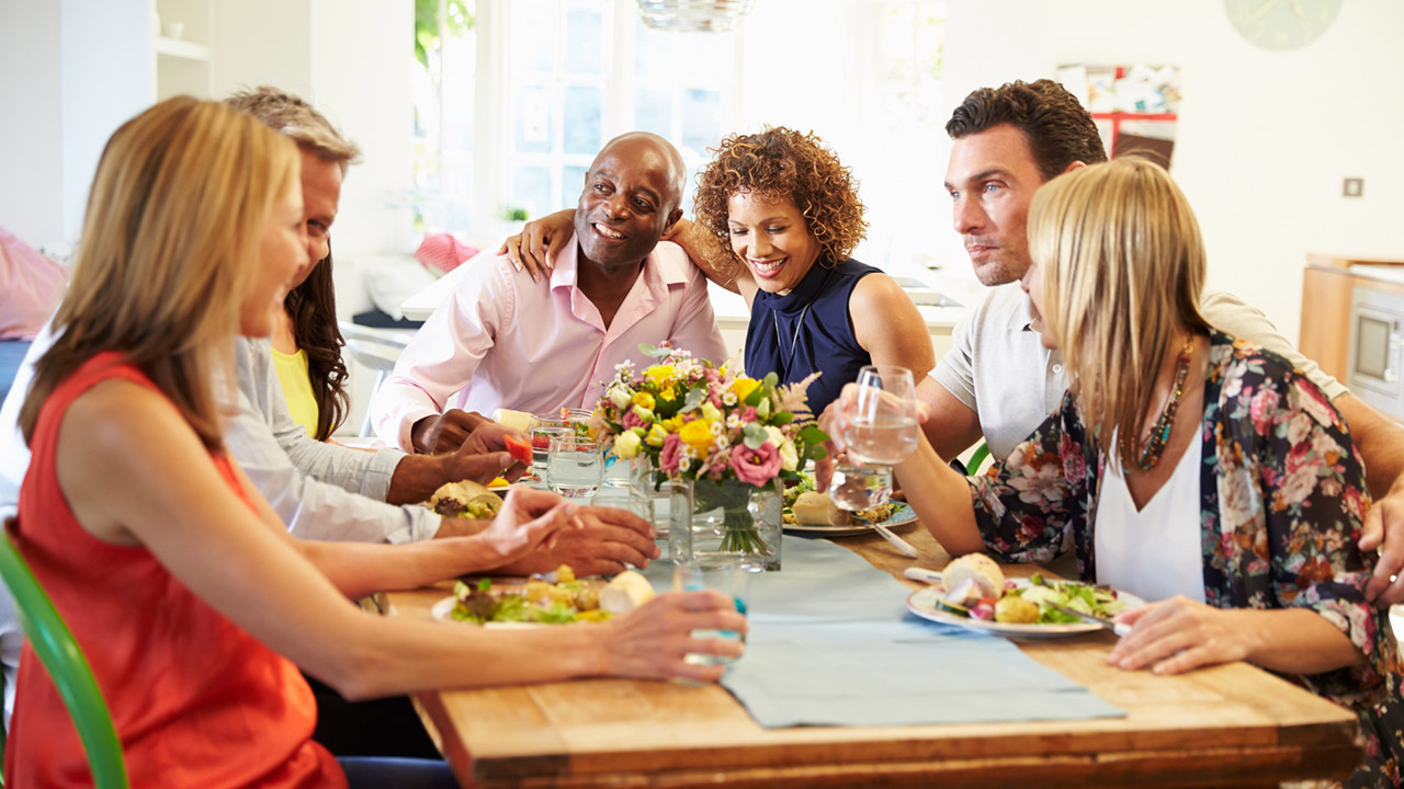
MULTIPOLYGON (((1351 0, 1293 52, 1238 38, 1221 0, 952 0, 946 91, 1052 77, 1060 63, 1177 63, 1172 174, 1205 233, 1210 286, 1297 340, 1307 251, 1404 256, 1404 3, 1351 0), (1342 198, 1342 177, 1363 198, 1342 198)), ((949 114, 949 107, 948 107, 949 114)), ((939 145, 949 152, 949 142, 939 145)), ((943 195, 934 195, 945 211, 943 195)), ((948 256, 955 234, 942 227, 948 256)))

